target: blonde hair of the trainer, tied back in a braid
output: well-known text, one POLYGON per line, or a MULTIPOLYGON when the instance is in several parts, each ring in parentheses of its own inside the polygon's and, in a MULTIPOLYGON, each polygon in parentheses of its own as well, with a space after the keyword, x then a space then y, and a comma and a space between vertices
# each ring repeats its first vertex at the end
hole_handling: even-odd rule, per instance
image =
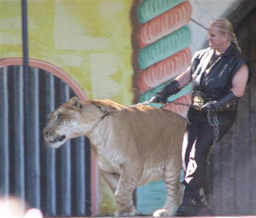
POLYGON ((215 26, 218 28, 221 34, 228 34, 230 42, 236 45, 237 50, 241 52, 241 48, 239 47, 236 34, 233 32, 232 24, 225 18, 218 18, 217 20, 213 20, 209 26, 215 26))

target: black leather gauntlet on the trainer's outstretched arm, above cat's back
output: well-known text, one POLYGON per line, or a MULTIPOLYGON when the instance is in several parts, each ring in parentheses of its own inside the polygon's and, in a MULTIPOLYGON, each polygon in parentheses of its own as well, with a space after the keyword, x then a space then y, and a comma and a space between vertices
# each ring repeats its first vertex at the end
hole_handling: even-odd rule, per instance
POLYGON ((179 86, 180 84, 177 80, 172 80, 170 83, 164 86, 163 89, 157 92, 157 94, 154 95, 153 98, 151 98, 151 101, 154 103, 166 103, 167 98, 170 95, 175 95, 177 94, 177 92, 180 91, 180 89, 178 88, 179 86))

